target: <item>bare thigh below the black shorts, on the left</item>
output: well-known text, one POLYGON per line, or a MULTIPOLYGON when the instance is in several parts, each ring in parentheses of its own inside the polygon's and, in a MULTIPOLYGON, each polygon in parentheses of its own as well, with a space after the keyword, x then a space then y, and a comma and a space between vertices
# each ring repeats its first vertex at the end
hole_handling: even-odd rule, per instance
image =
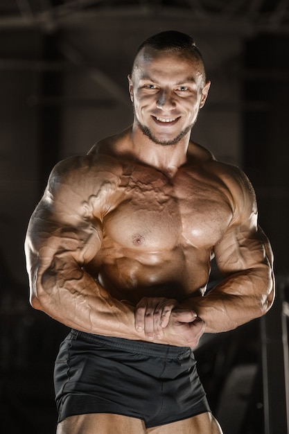
POLYGON ((122 415, 91 413, 67 417, 56 434, 146 434, 141 419, 122 415))

